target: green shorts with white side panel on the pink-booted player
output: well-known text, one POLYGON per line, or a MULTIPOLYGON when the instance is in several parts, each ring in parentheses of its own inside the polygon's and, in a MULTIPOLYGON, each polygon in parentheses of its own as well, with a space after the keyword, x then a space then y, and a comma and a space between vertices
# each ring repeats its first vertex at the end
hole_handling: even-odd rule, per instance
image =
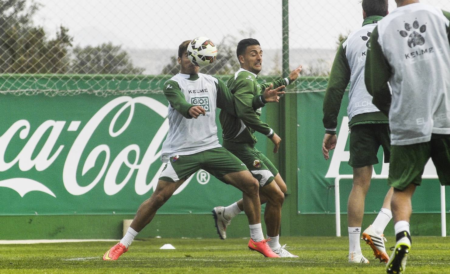
POLYGON ((170 157, 161 172, 160 180, 167 182, 178 182, 203 169, 226 183, 223 179, 225 174, 248 170, 236 156, 223 147, 217 147, 201 151, 191 155, 176 155, 170 157))

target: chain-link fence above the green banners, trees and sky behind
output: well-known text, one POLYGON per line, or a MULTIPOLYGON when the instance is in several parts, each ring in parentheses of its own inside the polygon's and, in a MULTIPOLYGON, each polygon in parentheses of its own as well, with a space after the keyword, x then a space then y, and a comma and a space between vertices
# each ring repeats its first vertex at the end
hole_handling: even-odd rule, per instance
MULTIPOLYGON (((448 0, 421 2, 450 10, 448 0)), ((18 95, 160 92, 179 72, 180 42, 198 36, 219 50, 202 73, 234 74, 238 41, 253 37, 261 75, 281 76, 283 22, 289 67, 303 65, 291 92, 324 91, 339 37, 363 20, 360 0, 0 0, 0 15, 0 92, 18 95)))

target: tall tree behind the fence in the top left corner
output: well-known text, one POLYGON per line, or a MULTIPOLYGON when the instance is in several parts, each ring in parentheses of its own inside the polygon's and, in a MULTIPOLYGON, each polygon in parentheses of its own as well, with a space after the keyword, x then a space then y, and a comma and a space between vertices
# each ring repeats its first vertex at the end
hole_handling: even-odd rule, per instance
POLYGON ((40 5, 27 0, 0 0, 0 73, 64 73, 72 37, 61 26, 48 40, 32 16, 40 5))

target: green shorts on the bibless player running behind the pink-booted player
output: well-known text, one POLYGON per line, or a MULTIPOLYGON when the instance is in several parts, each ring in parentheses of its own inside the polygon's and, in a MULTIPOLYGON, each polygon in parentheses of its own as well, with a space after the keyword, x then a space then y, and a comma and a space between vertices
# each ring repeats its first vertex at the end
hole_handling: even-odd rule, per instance
POLYGON ((275 165, 257 149, 245 151, 230 150, 230 152, 247 166, 261 187, 264 187, 266 183, 272 182, 275 175, 278 174, 278 169, 275 165))

